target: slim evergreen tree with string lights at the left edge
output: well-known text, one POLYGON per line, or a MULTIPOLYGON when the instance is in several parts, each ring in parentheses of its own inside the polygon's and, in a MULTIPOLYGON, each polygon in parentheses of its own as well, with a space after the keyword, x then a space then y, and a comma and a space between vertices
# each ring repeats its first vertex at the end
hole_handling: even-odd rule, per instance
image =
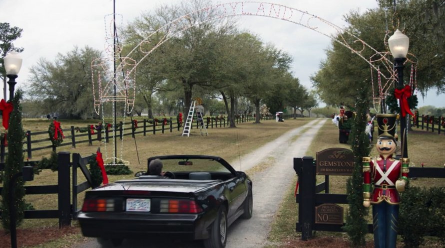
MULTIPOLYGON (((3 190, 1 191, 2 212, 1 224, 5 230, 9 230, 10 225, 10 209, 9 209, 9 181, 12 176, 21 172, 23 168, 23 138, 25 132, 21 123, 21 91, 17 90, 12 99, 13 110, 9 115, 9 127, 7 133, 8 155, 4 164, 4 181, 3 190)), ((10 101, 9 101, 10 102, 10 101)), ((24 217, 24 183, 23 178, 18 177, 16 181, 13 205, 16 211, 16 225, 19 226, 24 217)))

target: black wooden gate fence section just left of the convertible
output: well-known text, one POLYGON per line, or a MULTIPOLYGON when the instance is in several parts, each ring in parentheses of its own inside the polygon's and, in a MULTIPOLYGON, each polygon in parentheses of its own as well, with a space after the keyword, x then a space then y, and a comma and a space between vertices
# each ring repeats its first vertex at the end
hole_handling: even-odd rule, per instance
MULTIPOLYGON (((77 195, 91 188, 91 175, 86 167, 91 156, 82 158, 80 154, 61 151, 57 153, 57 184, 43 186, 25 186, 26 195, 56 194, 57 209, 50 210, 26 210, 25 219, 58 219, 59 227, 71 225, 79 210, 77 209, 77 195), (70 172, 71 167, 71 172, 70 172), (77 168, 80 168, 86 181, 78 183, 77 168), (71 181, 72 179, 72 181, 71 181), (72 182, 72 185, 69 182, 72 182)), ((34 165, 35 162, 26 162, 26 165, 34 165)), ((4 169, 4 163, 0 163, 0 170, 4 169)), ((0 187, 0 193, 2 188, 0 187)), ((32 204, 32 202, 31 202, 32 204)))

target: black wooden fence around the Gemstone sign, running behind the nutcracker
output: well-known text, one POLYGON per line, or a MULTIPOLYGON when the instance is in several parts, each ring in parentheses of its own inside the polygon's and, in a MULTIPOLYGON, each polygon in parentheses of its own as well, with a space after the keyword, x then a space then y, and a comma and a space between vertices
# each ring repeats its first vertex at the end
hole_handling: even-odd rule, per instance
MULTIPOLYGON (((299 194, 296 202, 298 206, 298 222, 296 231, 301 232, 301 239, 312 238, 313 231, 344 232, 340 224, 315 223, 315 207, 325 203, 348 204, 346 194, 329 194, 329 175, 325 182, 316 184, 316 163, 313 157, 294 158, 294 170, 299 179, 299 194), (320 193, 325 191, 325 193, 320 193)), ((410 177, 445 178, 445 168, 410 167, 410 177)), ((368 225, 368 232, 373 233, 372 224, 368 225)))

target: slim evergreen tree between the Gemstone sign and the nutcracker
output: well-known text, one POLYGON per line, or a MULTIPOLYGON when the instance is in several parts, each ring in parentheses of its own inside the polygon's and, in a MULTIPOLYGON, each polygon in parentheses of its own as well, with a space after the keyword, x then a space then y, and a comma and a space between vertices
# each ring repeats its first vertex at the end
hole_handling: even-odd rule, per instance
POLYGON ((349 142, 355 157, 355 167, 352 176, 347 181, 347 199, 349 211, 346 216, 344 230, 348 233, 349 240, 354 247, 365 246, 365 235, 368 233, 368 224, 365 216, 368 209, 363 206, 363 163, 362 157, 370 152, 370 141, 365 132, 366 113, 370 105, 369 94, 364 88, 360 89, 360 99, 356 103, 356 117, 351 129, 349 142))

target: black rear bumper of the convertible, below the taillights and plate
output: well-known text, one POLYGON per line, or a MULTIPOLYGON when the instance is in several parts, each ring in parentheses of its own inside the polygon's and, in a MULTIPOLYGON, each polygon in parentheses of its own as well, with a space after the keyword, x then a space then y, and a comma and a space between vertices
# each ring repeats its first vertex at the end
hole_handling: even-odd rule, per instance
POLYGON ((80 213, 82 234, 97 238, 208 238, 207 227, 213 220, 195 214, 80 213))

